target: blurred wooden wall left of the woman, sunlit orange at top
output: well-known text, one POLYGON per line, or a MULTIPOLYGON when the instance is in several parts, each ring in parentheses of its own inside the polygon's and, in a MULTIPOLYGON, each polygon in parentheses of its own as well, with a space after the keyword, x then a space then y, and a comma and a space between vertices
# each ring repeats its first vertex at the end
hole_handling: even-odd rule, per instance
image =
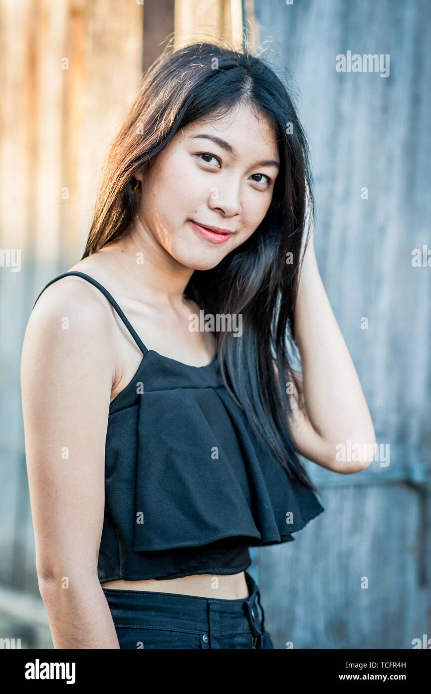
POLYGON ((141 76, 142 15, 136 2, 0 0, 0 582, 16 588, 37 591, 24 330, 42 287, 82 254, 100 167, 141 76))

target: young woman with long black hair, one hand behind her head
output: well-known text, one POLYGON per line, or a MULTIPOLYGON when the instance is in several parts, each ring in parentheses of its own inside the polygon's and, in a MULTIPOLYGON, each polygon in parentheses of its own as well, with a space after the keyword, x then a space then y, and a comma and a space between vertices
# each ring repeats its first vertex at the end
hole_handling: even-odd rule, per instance
POLYGON ((338 444, 375 443, 274 71, 166 49, 112 144, 81 260, 42 291, 21 391, 54 647, 273 648, 249 547, 324 510, 297 452, 350 474, 373 455, 340 462, 338 444))

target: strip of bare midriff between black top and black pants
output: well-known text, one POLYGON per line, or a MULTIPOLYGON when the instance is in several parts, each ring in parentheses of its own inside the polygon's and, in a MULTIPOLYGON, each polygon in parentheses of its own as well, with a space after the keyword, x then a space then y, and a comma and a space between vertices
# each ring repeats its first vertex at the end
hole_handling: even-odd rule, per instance
POLYGON ((145 581, 107 581, 100 584, 102 588, 123 591, 151 591, 152 593, 178 593, 179 595, 196 595, 198 598, 220 598, 238 600, 248 598, 249 591, 245 573, 229 576, 203 573, 194 576, 170 579, 148 579, 145 581))

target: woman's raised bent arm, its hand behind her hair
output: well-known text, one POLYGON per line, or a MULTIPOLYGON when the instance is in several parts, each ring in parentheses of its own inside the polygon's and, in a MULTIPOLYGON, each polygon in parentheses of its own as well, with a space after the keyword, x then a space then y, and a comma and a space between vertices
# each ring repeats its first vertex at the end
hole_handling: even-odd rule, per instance
POLYGON ((319 274, 313 235, 299 278, 294 337, 301 355, 303 377, 299 383, 305 403, 304 411, 298 407, 298 393, 291 400, 297 449, 337 473, 360 472, 373 462, 376 435, 358 373, 319 274), (355 445, 361 459, 346 459, 355 445))

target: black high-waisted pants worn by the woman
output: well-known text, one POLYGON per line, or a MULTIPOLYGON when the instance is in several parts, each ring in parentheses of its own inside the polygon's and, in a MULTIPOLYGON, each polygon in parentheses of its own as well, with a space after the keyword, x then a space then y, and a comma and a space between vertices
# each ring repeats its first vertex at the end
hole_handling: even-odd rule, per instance
POLYGON ((120 648, 274 648, 258 586, 245 579, 239 600, 103 589, 120 648))

